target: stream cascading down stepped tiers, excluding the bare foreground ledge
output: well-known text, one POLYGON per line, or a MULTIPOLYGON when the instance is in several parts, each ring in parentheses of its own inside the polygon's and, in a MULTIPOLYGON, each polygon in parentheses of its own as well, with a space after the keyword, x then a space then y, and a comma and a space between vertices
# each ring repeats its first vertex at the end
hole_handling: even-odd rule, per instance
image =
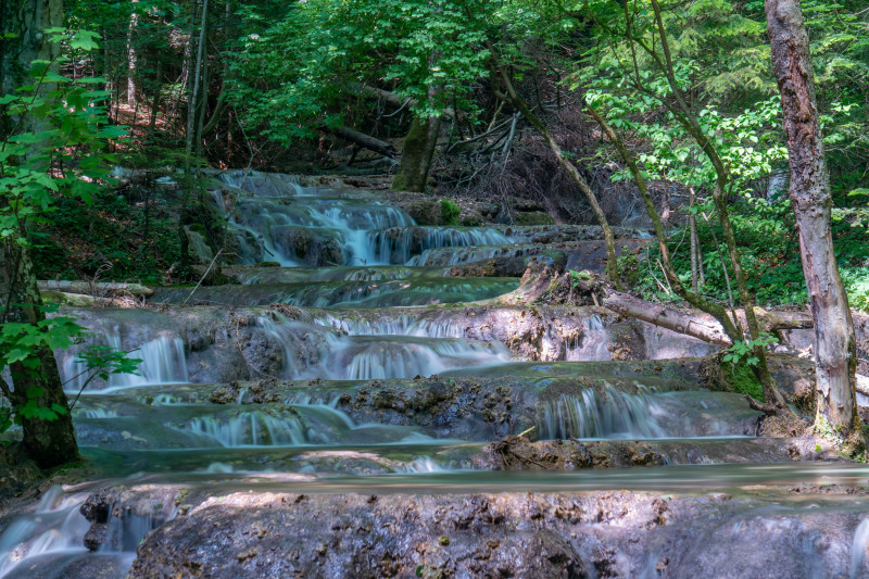
MULTIPOLYGON (((239 265, 250 266, 237 284, 201 288, 184 309, 171 304, 191 288, 161 289, 152 302, 169 304, 168 313, 74 312, 90 343, 141 360, 138 375, 98 379, 76 403, 79 444, 102 484, 192 494, 691 495, 869 477, 865 466, 794 463, 769 450, 778 446, 756 438, 758 413, 738 394, 609 362, 613 320, 596 311, 538 319, 496 301, 518 278, 449 277, 456 264, 539 254, 540 228, 423 227, 370 196, 305 188, 287 176, 221 178, 215 210, 229 223, 239 265), (600 448, 657 444, 664 458, 652 467, 492 470, 487 444, 528 429, 600 448)), ((76 357, 83 347, 58 353, 73 395, 86 379, 76 357)), ((9 521, 0 577, 125 577, 147 533, 180 516, 162 500, 110 513, 106 539, 89 550, 79 508, 97 486, 52 488, 9 521)), ((869 576, 866 507, 860 498, 832 507, 845 517, 846 568, 814 576, 869 576)), ((700 549, 703 533, 688 536, 685 549, 700 549)))

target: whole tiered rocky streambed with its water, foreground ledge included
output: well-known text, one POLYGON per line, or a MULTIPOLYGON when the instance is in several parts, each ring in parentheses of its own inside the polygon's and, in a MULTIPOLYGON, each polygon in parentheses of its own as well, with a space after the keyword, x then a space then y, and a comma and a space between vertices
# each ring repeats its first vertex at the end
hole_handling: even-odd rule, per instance
POLYGON ((600 270, 597 228, 379 194, 215 173, 235 263, 62 310, 142 363, 77 400, 84 465, 0 456, 0 577, 869 577, 869 469, 806 428, 805 330, 772 356, 804 414, 766 419, 716 348, 527 299, 600 270))

